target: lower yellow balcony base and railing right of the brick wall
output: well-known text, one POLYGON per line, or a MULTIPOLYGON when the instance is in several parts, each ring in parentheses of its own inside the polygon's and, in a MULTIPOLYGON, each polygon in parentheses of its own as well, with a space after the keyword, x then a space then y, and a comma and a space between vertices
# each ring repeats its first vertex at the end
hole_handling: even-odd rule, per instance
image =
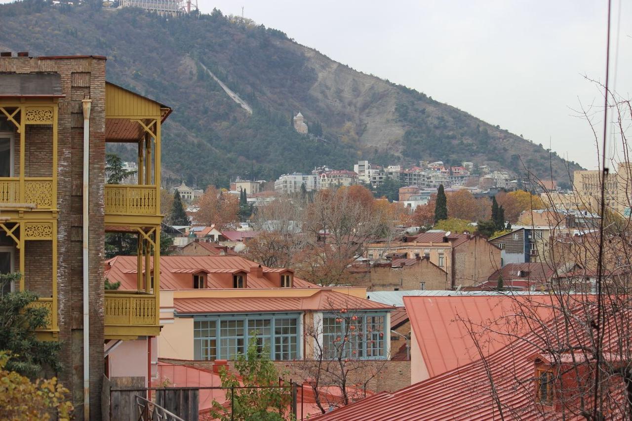
POLYGON ((158 297, 141 291, 106 291, 106 339, 160 334, 158 297))

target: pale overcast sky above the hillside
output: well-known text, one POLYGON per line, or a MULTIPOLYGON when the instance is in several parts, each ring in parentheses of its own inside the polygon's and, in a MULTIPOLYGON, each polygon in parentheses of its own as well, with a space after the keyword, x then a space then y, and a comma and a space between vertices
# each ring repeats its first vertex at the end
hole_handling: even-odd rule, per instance
MULTIPOLYGON (((603 102, 583 75, 605 79, 606 1, 198 1, 204 13, 244 6, 247 18, 336 61, 597 165, 592 131, 572 109, 603 102)), ((632 5, 623 2, 619 25, 612 3, 611 81, 628 96, 632 5)))

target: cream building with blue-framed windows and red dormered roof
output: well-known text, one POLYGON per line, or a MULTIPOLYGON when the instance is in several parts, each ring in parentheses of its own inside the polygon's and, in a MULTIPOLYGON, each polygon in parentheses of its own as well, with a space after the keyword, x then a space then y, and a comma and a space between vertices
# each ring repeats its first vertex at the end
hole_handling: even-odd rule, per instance
MULTIPOLYGON (((114 257, 106 262, 106 276, 130 288, 134 264, 135 257, 114 257)), ((233 360, 258 333, 272 360, 314 358, 320 349, 329 358, 346 328, 341 309, 357 320, 352 330, 370 338, 349 343, 349 358, 352 351, 368 359, 390 356, 392 307, 364 298, 365 288, 322 288, 291 269, 229 255, 165 256, 161 271, 160 357, 233 360)))

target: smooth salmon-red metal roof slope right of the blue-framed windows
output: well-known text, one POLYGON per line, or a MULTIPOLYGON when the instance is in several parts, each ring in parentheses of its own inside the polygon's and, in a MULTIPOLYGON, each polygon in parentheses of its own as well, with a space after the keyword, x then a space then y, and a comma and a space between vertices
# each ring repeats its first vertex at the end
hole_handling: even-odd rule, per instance
MULTIPOLYGON (((516 296, 404 296, 406 312, 410 317, 412 334, 415 335, 423 356, 429 377, 461 367, 480 358, 470 331, 473 325, 489 324, 497 321, 503 324, 504 316, 518 302, 549 302, 549 295, 516 296), (468 326, 466 326, 467 320, 468 326)), ((536 311, 543 317, 550 314, 550 308, 542 305, 536 311)), ((474 332, 478 340, 485 340, 485 353, 489 355, 506 345, 501 334, 480 327, 474 332)), ((516 332, 518 333, 518 332, 516 332)))

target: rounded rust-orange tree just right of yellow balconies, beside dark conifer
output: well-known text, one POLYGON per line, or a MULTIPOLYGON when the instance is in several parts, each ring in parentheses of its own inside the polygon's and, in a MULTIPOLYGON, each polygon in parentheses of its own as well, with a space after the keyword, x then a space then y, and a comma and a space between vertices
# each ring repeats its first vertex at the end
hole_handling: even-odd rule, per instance
POLYGON ((215 224, 218 229, 233 228, 239 223, 239 199, 210 186, 196 202, 198 224, 215 224))

